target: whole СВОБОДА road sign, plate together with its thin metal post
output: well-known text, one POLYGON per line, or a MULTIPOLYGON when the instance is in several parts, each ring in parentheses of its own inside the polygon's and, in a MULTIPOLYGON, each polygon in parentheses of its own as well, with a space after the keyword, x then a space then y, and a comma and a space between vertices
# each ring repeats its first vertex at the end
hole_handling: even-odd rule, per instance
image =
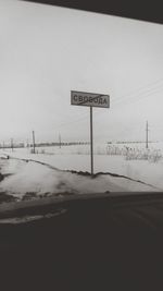
POLYGON ((92 138, 92 107, 109 108, 110 96, 86 92, 71 92, 71 105, 90 107, 90 167, 93 177, 93 138, 92 138))

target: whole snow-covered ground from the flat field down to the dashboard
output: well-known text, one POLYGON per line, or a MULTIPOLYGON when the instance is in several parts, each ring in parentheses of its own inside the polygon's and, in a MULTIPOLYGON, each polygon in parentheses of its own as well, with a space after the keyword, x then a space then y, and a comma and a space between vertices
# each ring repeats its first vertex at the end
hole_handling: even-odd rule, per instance
POLYGON ((7 177, 0 183, 0 192, 27 198, 70 193, 163 191, 162 158, 155 162, 126 159, 125 155, 109 155, 106 150, 108 145, 95 147, 95 173, 103 173, 91 179, 89 174, 71 172, 90 171, 89 145, 36 148, 37 154, 32 154, 29 148, 1 149, 0 172, 7 177))

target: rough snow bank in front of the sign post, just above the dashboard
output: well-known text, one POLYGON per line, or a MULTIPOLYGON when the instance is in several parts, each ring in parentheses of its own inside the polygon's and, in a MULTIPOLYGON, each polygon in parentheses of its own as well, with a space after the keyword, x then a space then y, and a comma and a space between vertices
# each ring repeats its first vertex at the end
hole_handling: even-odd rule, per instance
MULTIPOLYGON (((114 167, 116 167, 116 162, 114 167)), ((115 178, 106 174, 91 179, 90 177, 54 170, 34 161, 26 162, 8 159, 5 162, 4 160, 2 162, 0 161, 0 165, 2 173, 12 173, 0 183, 0 192, 5 192, 20 198, 27 193, 34 193, 39 196, 45 194, 65 195, 67 193, 86 194, 106 191, 154 191, 149 185, 143 185, 124 178, 115 178)), ((111 166, 111 163, 109 165, 111 166)), ((121 166, 120 171, 122 173, 124 165, 121 163, 121 166)))

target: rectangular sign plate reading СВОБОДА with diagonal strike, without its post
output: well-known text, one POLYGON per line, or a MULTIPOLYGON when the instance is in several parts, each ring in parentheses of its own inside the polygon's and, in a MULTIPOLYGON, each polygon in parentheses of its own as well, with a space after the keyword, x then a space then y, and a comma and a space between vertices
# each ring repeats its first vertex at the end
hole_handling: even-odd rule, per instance
POLYGON ((86 92, 71 92, 71 104, 77 106, 110 107, 110 96, 86 92))

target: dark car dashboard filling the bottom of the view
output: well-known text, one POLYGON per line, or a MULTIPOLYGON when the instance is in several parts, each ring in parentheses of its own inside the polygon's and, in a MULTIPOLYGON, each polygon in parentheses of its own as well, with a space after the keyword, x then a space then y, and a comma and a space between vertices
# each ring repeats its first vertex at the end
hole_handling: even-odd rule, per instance
POLYGON ((0 290, 163 290, 163 195, 67 199, 0 214, 0 290))

